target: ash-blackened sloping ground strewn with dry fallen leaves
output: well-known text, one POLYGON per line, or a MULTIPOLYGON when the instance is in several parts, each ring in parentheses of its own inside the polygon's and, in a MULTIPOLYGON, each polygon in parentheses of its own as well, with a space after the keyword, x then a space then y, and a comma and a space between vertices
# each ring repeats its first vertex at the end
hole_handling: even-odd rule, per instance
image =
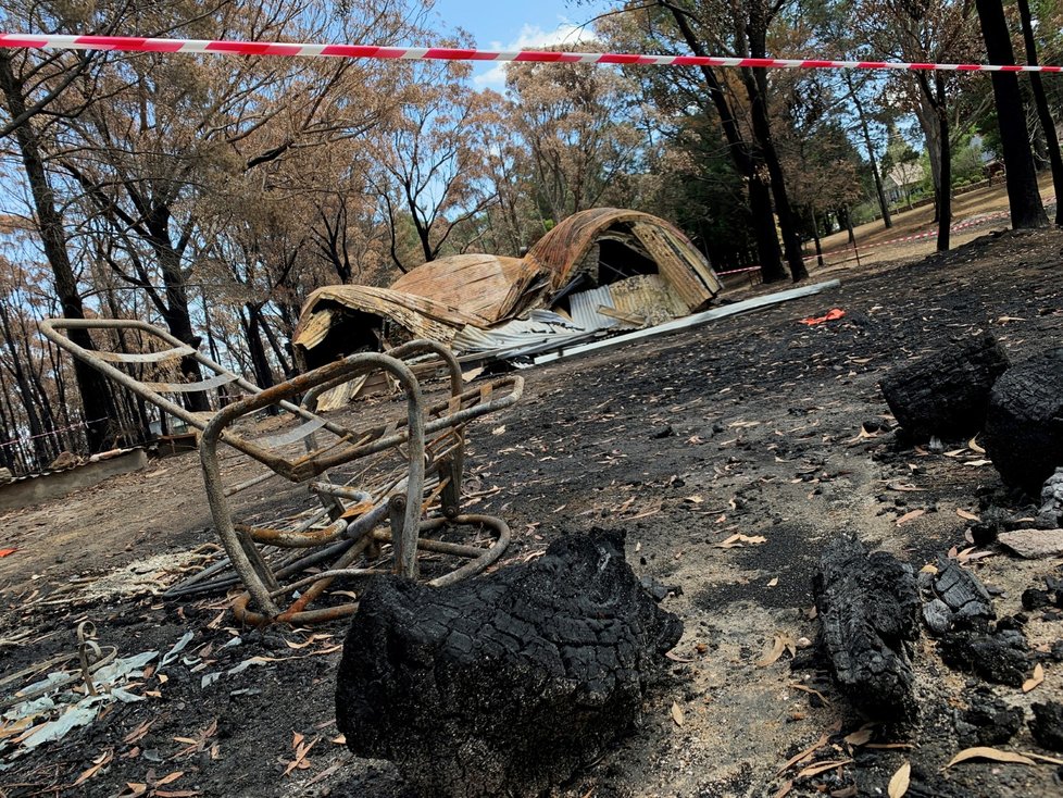
MULTIPOLYGON (((638 575, 681 589, 663 607, 686 631, 641 724, 554 795, 886 795, 905 762, 910 796, 1060 795, 1049 762, 945 766, 975 745, 958 737, 955 716, 985 700, 983 688, 1026 720, 1031 702, 1063 699, 1060 649, 1052 654, 1063 614, 1027 613, 1045 674, 1027 694, 951 670, 924 635, 918 720, 849 740, 865 722, 800 647, 816 636, 811 575, 834 536, 854 533, 917 571, 968 548, 971 522, 958 511, 1022 509, 977 441, 931 452, 906 440, 877 381, 933 344, 981 331, 1012 362, 1063 344, 1063 234, 985 236, 841 278, 818 296, 527 371, 524 400, 471 429, 466 507, 509 522, 505 561, 563 533, 616 528, 638 575), (798 322, 831 308, 845 317, 798 322), (797 660, 784 651, 765 664, 777 641, 792 641, 797 660)), ((263 487, 243 512, 285 501, 263 487)), ((412 795, 389 764, 336 741, 345 622, 237 628, 224 597, 152 594, 211 544, 196 454, 0 516, 0 547, 18 549, 0 559, 0 679, 76 652, 83 620, 121 657, 165 652, 193 633, 175 662, 127 687, 143 701, 111 703, 14 758, 18 732, 0 726, 0 795, 412 795)), ((1023 590, 1059 572, 1058 561, 988 551, 966 566, 997 594, 999 616, 1023 611, 1023 590)), ((0 683, 0 695, 61 666, 0 683)), ((1038 748, 1025 723, 999 747, 1063 756, 1038 748)))

